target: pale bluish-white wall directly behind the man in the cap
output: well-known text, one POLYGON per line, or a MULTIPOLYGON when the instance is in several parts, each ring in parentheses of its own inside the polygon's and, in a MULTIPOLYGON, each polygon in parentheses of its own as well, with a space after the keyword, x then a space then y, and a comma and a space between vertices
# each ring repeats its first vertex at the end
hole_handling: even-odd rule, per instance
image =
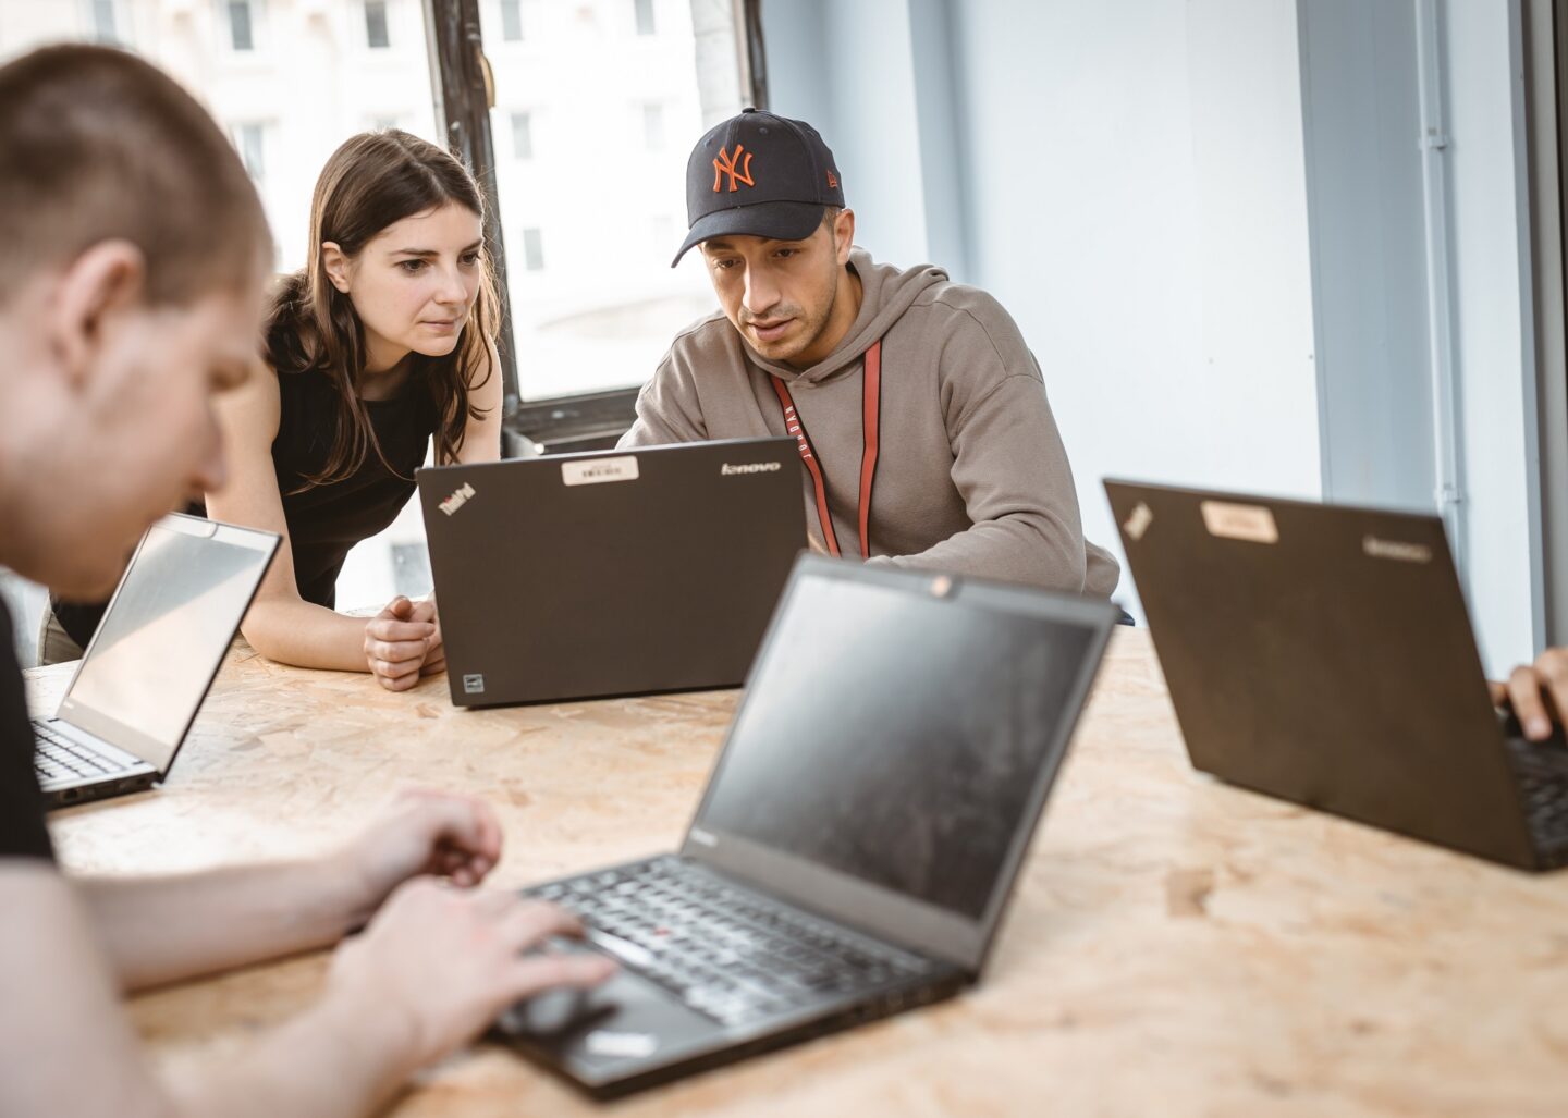
POLYGON ((817 9, 831 47, 806 58, 786 44, 809 41, 809 8, 765 6, 770 99, 818 107, 875 256, 916 263, 939 243, 927 221, 964 229, 967 274, 936 263, 1018 318, 1090 538, 1118 546, 1112 474, 1319 495, 1295 5, 952 3, 966 215, 913 213, 922 152, 903 146, 928 154, 939 129, 922 135, 914 99, 880 97, 898 91, 908 13, 930 9, 817 9), (833 64, 850 58, 873 61, 833 64))

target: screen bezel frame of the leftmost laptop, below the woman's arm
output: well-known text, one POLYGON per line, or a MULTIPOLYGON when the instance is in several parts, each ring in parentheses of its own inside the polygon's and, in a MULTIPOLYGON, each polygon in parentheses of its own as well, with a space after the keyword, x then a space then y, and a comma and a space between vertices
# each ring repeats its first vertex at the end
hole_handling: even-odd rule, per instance
MULTIPOLYGON (((141 558, 143 549, 147 546, 154 532, 177 532, 185 536, 194 536, 198 539, 212 539, 215 543, 232 544, 235 547, 245 547, 257 554, 256 577, 251 583, 251 591, 246 594, 245 608, 234 619, 234 630, 238 630, 240 621, 245 613, 251 608, 251 602, 256 601, 256 591, 262 585, 262 579, 267 575, 267 568, 271 564, 273 555, 278 552, 278 544, 282 539, 276 532, 263 532, 260 528, 243 528, 235 524, 224 524, 223 521, 207 521, 199 516, 187 516, 183 513, 168 513, 160 517, 152 527, 143 533, 141 539, 136 543, 136 550, 130 557, 130 563, 125 564, 125 574, 121 575, 119 585, 114 588, 114 596, 110 597, 108 605, 103 608, 103 619, 107 621, 114 613, 114 604, 119 601, 121 593, 130 582, 132 572, 136 569, 136 560, 141 558)), ((183 723, 180 724, 180 732, 176 737, 172 746, 168 742, 158 742, 157 739, 143 734, 135 726, 127 726, 113 715, 99 710, 93 706, 75 698, 77 679, 80 679, 82 671, 93 660, 93 651, 97 648, 99 635, 103 632, 103 621, 99 623, 97 630, 93 633, 93 640, 82 651, 82 659, 77 662, 77 668, 71 673, 71 684, 66 687, 66 695, 60 701, 60 709, 55 717, 77 729, 83 729, 94 737, 99 737, 110 745, 114 745, 125 753, 133 754, 143 764, 151 765, 157 770, 158 779, 168 775, 169 767, 174 764, 174 757, 179 754, 180 746, 185 743, 185 737, 190 734, 191 723, 196 721, 196 712, 201 710, 201 704, 207 698, 207 691, 212 690, 212 681, 218 677, 218 670, 223 666, 223 660, 229 652, 229 646, 234 643, 234 632, 229 633, 229 640, 223 643, 223 648, 213 655, 212 666, 207 670, 207 677, 202 682, 201 698, 187 712, 183 723)))

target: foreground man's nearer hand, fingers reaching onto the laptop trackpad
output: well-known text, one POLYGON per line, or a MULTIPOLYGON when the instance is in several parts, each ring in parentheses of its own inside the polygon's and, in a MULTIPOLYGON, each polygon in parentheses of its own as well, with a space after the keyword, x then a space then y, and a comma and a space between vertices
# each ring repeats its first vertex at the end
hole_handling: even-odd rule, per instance
POLYGON ((412 1071, 470 1041, 513 1002, 596 986, 615 972, 602 955, 524 955, 561 935, 582 927, 555 905, 411 881, 339 947, 326 1002, 348 1019, 376 1019, 412 1071))

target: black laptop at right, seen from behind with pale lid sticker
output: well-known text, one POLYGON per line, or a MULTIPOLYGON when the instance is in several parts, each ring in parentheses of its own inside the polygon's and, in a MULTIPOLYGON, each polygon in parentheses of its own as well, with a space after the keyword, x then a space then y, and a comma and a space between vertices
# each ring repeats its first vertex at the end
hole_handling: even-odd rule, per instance
POLYGON ((1521 869, 1568 750, 1491 704, 1436 516, 1107 481, 1196 768, 1521 869))

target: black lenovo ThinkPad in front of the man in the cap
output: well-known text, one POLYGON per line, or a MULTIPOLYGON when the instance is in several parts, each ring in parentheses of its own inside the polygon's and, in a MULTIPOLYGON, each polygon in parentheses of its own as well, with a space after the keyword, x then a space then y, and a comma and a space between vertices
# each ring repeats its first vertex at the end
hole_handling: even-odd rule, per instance
POLYGON ((806 546, 790 439, 417 478, 456 706, 737 687, 806 546))

